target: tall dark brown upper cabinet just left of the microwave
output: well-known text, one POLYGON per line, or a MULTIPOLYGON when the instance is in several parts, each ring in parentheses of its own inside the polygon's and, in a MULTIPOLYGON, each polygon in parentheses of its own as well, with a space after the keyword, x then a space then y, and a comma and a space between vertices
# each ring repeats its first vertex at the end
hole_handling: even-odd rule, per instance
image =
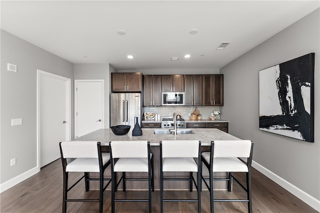
POLYGON ((143 75, 143 106, 161 106, 161 75, 143 75))

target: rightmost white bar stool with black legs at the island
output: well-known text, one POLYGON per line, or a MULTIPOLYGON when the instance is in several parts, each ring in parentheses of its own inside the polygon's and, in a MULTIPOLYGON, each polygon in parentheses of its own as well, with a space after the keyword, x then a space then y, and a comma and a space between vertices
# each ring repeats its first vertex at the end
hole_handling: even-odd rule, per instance
POLYGON ((201 154, 201 161, 209 171, 209 178, 201 178, 210 191, 210 210, 213 210, 214 202, 247 202, 248 212, 252 212, 251 201, 251 162, 253 142, 249 140, 211 141, 210 152, 201 154), (246 162, 239 158, 246 158, 246 162), (213 178, 214 172, 228 172, 228 178, 213 178), (246 188, 234 178, 232 172, 244 172, 246 174, 246 188), (206 180, 209 181, 209 185, 206 180), (246 192, 247 199, 213 199, 213 181, 228 181, 228 191, 231 192, 232 180, 235 180, 246 192))

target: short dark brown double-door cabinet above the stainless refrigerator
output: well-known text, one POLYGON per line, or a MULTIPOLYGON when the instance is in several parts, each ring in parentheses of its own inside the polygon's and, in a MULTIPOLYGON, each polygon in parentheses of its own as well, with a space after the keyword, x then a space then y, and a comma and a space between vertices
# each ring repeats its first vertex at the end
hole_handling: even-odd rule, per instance
POLYGON ((140 72, 112 72, 112 92, 141 92, 142 74, 140 72))

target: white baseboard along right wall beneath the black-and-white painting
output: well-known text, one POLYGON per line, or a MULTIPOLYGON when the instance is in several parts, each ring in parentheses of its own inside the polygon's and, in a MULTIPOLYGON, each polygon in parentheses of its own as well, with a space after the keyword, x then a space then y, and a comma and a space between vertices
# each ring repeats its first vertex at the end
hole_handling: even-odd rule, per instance
POLYGON ((277 176, 276 174, 272 173, 270 170, 264 168, 260 164, 252 161, 252 167, 274 181, 276 184, 280 185, 282 188, 290 192, 292 195, 315 209, 316 211, 320 212, 320 201, 316 200, 309 194, 303 192, 299 188, 295 187, 294 185, 290 184, 286 180, 282 179, 281 177, 277 176))

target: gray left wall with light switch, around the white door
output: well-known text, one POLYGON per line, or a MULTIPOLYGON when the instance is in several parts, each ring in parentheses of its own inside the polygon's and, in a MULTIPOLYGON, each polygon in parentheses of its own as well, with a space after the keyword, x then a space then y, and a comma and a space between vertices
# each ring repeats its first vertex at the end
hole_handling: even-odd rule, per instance
MULTIPOLYGON (((2 184, 37 167, 36 70, 64 76, 73 82, 73 64, 6 31, 0 33, 2 184), (17 65, 17 72, 7 71, 7 63, 17 65), (11 126, 12 118, 22 118, 22 125, 11 126), (12 158, 16 158, 16 165, 10 167, 12 158)), ((73 120, 73 83, 71 113, 73 120)))

